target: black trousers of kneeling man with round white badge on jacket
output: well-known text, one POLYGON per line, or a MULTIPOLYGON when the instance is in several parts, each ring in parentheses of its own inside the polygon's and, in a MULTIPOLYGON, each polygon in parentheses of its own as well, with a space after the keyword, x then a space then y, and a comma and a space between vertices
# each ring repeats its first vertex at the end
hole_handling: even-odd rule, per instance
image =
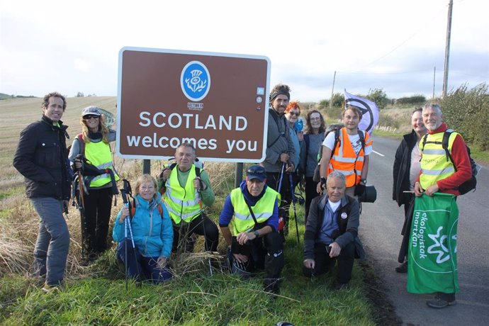
POLYGON ((350 242, 346 247, 342 248, 338 257, 331 258, 326 251, 326 245, 317 243, 314 246, 314 269, 308 269, 303 266, 303 274, 305 276, 317 276, 331 271, 338 262, 338 271, 336 280, 339 283, 348 283, 352 279, 352 269, 355 259, 355 245, 350 242))

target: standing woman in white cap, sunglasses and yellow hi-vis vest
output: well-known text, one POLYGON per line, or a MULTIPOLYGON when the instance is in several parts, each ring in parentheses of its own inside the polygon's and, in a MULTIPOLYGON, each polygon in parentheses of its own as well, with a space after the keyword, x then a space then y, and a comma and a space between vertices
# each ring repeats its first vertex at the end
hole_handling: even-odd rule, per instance
MULTIPOLYGON (((82 264, 88 264, 108 249, 108 222, 111 219, 113 182, 119 180, 112 164, 112 151, 109 142, 116 140, 116 131, 107 127, 101 108, 89 106, 81 111, 81 133, 73 140, 69 160, 75 171, 83 175, 84 189, 81 210, 81 252, 82 264), (111 169, 114 173, 88 175, 84 162, 96 169, 111 169)), ((81 203, 79 203, 81 205, 81 203)))

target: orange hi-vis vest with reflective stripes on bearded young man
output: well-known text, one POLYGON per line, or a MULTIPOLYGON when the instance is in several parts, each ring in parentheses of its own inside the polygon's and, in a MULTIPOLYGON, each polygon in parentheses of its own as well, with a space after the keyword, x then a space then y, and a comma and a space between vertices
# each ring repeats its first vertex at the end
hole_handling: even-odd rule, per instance
MULTIPOLYGON (((369 143, 369 133, 364 133, 365 145, 369 143)), ((364 149, 361 149, 356 157, 350 142, 347 128, 342 128, 339 135, 339 146, 333 149, 327 174, 333 171, 340 172, 347 177, 347 187, 352 187, 360 182, 361 169, 364 168, 364 149)))

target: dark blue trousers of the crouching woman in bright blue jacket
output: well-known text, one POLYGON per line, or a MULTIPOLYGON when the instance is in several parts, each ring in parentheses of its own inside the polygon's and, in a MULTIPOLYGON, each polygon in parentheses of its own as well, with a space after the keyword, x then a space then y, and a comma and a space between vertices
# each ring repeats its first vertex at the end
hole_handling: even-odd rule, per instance
POLYGON ((157 266, 158 257, 144 257, 140 254, 137 247, 133 250, 133 243, 130 239, 125 239, 117 246, 117 260, 121 264, 125 265, 125 244, 128 244, 128 275, 131 279, 140 280, 143 279, 152 281, 153 283, 160 283, 172 279, 172 273, 164 267, 159 269, 157 266))

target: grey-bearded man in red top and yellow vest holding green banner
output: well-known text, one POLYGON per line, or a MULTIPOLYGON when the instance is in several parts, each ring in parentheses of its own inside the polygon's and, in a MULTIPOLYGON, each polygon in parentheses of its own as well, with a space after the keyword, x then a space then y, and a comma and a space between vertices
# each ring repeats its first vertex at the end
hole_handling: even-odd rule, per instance
MULTIPOLYGON (((466 144, 459 133, 449 130, 443 122, 438 104, 426 104, 422 118, 428 133, 420 141, 421 173, 415 181, 415 196, 433 196, 437 192, 459 196, 459 186, 472 176, 466 144), (442 147, 445 132, 450 133, 447 150, 452 159, 442 147)), ((433 300, 427 301, 430 308, 445 308, 454 304, 455 293, 438 292, 433 300)))

